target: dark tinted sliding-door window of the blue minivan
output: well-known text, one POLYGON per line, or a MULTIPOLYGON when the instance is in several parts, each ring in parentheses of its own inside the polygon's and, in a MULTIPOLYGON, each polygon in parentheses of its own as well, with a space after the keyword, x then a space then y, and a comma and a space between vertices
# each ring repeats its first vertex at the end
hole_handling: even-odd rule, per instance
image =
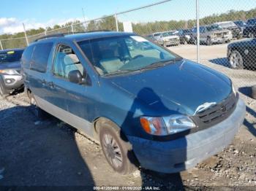
POLYGON ((52 42, 36 44, 31 59, 30 69, 44 73, 47 68, 52 42))

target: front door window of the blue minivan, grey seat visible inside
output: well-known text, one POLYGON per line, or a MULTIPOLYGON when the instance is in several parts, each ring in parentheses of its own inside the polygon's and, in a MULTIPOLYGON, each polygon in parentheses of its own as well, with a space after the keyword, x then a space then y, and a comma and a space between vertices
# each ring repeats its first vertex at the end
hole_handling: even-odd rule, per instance
POLYGON ((59 45, 54 59, 53 74, 56 77, 68 79, 69 72, 74 70, 80 71, 83 76, 83 65, 72 48, 64 44, 59 45))

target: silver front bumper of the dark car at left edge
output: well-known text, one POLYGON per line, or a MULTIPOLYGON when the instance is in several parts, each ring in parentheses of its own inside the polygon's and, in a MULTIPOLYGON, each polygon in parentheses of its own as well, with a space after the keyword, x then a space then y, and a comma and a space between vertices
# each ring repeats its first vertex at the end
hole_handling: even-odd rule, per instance
POLYGON ((2 74, 0 76, 1 84, 4 86, 5 90, 15 90, 23 87, 23 78, 21 75, 7 75, 2 74))

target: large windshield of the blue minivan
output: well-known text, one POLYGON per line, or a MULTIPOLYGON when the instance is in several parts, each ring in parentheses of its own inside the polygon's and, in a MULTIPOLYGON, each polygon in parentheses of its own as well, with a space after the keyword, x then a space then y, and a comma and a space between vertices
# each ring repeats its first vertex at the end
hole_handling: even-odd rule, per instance
POLYGON ((141 36, 114 36, 78 44, 101 75, 153 69, 182 59, 141 36))

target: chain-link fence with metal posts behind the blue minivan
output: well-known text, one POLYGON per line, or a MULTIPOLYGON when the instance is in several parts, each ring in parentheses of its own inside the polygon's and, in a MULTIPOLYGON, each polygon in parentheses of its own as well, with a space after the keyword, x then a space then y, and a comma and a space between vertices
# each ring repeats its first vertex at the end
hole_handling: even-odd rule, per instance
MULTIPOLYGON (((255 0, 172 0, 148 4, 72 26, 28 36, 129 30, 146 36, 189 60, 229 76, 238 85, 256 84, 255 0), (198 7, 197 7, 198 2, 198 7), (200 27, 197 30, 197 13, 200 27), (199 38, 198 38, 199 37, 199 38), (250 38, 250 39, 249 39, 250 38)), ((1 49, 26 47, 26 39, 0 39, 1 49)))

